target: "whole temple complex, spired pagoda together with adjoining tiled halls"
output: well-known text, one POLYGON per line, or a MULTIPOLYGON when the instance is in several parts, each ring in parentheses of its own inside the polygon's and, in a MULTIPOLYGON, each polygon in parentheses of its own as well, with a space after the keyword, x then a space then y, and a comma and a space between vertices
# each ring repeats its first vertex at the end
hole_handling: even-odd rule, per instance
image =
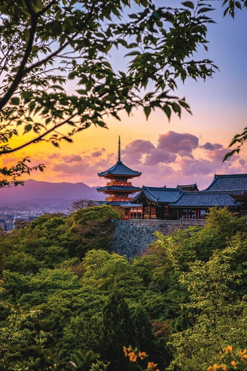
POLYGON ((199 190, 196 183, 174 188, 133 186, 129 180, 141 173, 121 161, 120 137, 117 163, 98 176, 109 180, 106 186, 97 188, 108 195, 103 203, 123 207, 125 219, 204 220, 213 206, 247 215, 247 174, 214 175, 204 190, 199 190))

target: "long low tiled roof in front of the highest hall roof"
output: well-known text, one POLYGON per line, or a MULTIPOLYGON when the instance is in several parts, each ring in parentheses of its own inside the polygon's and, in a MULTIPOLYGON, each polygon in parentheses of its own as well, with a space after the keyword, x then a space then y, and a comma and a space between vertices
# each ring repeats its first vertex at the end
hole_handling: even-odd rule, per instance
MULTIPOLYGON (((239 191, 238 193, 241 194, 242 192, 239 191)), ((241 204, 241 202, 235 201, 226 191, 181 191, 172 206, 183 208, 227 206, 236 208, 241 204)))

